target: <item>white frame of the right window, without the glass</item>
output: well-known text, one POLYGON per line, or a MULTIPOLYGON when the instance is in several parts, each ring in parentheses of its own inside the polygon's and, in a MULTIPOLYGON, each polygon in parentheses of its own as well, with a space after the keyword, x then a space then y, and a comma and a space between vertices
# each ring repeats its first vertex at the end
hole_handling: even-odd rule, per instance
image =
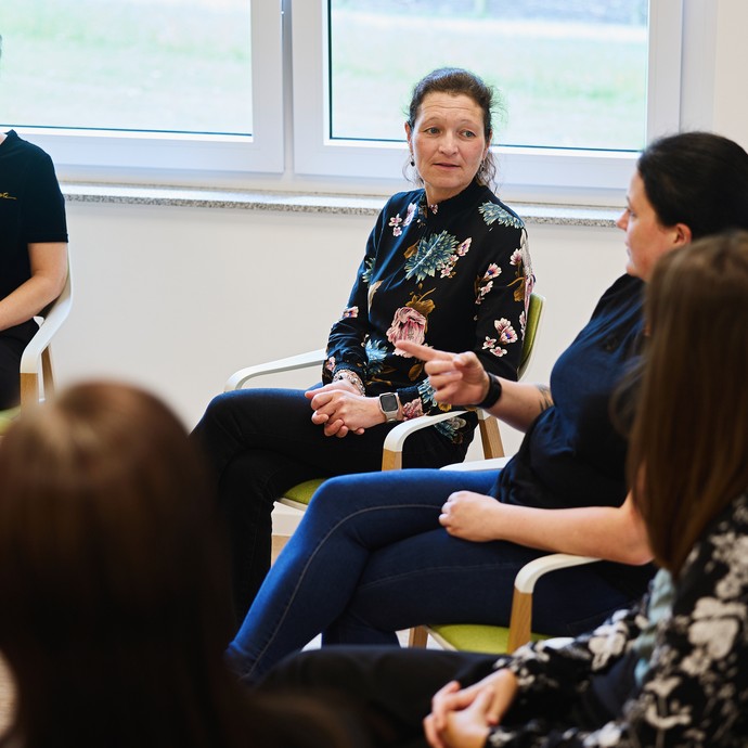
MULTIPOLYGON (((294 170, 307 177, 392 179, 402 144, 330 139, 326 0, 295 2, 292 13, 294 170), (298 124, 304 122, 304 127, 298 124)), ((647 141, 679 129, 683 0, 650 0, 647 141)), ((618 201, 635 153, 494 146, 503 195, 515 199, 618 201)))

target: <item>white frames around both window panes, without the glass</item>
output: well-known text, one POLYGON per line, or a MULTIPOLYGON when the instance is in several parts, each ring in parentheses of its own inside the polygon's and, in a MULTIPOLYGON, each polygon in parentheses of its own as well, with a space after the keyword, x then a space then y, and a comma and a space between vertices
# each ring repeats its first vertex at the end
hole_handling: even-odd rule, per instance
MULTIPOLYGON (((343 193, 402 184, 403 143, 327 137, 326 0, 252 2, 252 136, 17 128, 63 180, 343 193), (293 43, 288 41, 293 39, 293 43)), ((680 129, 685 0, 650 0, 647 140, 680 129)), ((513 201, 619 204, 635 153, 493 146, 513 201)))

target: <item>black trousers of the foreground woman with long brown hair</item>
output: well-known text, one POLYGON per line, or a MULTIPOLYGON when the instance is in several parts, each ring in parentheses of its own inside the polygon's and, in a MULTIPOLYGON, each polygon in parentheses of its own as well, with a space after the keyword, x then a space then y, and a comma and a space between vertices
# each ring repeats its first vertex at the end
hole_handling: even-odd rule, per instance
MULTIPOLYGON (((450 681, 463 686, 493 671, 495 655, 441 649, 400 649, 386 646, 331 646, 292 655, 270 670, 257 689, 314 695, 332 705, 340 719, 354 724, 372 746, 426 748, 423 719, 431 711, 431 697, 450 681)), ((619 715, 631 695, 636 657, 623 658, 604 678, 621 686, 620 701, 603 704, 595 688, 586 688, 550 704, 538 696, 513 707, 504 724, 516 731, 517 745, 564 744, 569 727, 595 731, 619 715), (623 687, 626 686, 626 687, 623 687)), ((565 744, 564 744, 565 745, 565 744)))

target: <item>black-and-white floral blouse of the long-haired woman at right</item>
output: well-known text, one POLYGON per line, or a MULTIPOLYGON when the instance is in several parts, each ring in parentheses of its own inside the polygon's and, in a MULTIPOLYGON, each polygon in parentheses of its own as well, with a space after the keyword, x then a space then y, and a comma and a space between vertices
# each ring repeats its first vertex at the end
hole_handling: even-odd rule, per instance
POLYGON ((637 608, 573 641, 521 647, 496 667, 519 682, 507 723, 529 721, 495 727, 488 746, 748 745, 748 494, 711 524, 678 581, 660 571, 637 608), (627 660, 633 667, 621 667, 627 660), (572 724, 575 702, 614 693, 612 681, 624 686, 617 717, 592 731, 572 724))

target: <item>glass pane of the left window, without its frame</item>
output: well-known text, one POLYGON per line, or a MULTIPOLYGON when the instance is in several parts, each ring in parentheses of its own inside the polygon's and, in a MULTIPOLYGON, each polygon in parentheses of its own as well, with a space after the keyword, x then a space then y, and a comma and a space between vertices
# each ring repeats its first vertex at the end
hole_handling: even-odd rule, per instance
POLYGON ((250 136, 250 28, 246 0, 10 3, 3 115, 21 126, 250 136))

